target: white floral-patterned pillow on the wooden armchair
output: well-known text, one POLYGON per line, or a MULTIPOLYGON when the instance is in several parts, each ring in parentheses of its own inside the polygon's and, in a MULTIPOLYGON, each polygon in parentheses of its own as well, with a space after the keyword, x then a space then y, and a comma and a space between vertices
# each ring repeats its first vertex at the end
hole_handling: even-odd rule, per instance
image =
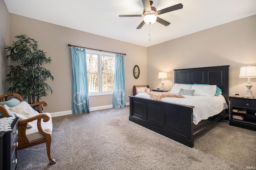
POLYGON ((17 104, 14 107, 10 107, 10 111, 24 115, 26 118, 34 117, 35 115, 39 114, 25 101, 20 102, 20 104, 17 104))

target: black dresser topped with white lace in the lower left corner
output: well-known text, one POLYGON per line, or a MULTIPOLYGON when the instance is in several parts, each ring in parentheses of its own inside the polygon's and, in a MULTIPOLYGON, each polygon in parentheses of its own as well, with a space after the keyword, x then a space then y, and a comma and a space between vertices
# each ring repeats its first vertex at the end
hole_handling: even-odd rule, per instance
POLYGON ((18 118, 0 116, 0 122, 0 170, 15 170, 18 162, 18 118))

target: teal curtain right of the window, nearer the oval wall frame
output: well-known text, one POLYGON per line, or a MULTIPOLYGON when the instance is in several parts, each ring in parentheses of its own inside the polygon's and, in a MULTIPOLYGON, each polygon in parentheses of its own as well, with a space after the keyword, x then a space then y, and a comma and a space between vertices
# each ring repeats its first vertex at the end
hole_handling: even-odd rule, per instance
POLYGON ((113 107, 120 108, 126 106, 124 90, 124 55, 116 54, 113 107))

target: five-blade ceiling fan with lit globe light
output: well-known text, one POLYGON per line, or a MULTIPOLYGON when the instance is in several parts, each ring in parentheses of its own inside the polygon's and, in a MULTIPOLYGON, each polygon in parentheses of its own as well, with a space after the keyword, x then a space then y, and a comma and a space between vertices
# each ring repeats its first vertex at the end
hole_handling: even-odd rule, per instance
POLYGON ((177 5, 170 6, 168 8, 164 8, 162 10, 157 11, 156 8, 152 6, 153 1, 142 0, 142 3, 144 6, 142 15, 119 15, 119 17, 144 17, 143 21, 140 23, 140 25, 136 29, 140 29, 145 23, 150 25, 150 24, 154 23, 155 21, 157 21, 165 26, 168 26, 170 24, 170 22, 165 21, 157 16, 160 14, 164 14, 167 12, 171 12, 171 11, 175 11, 175 10, 179 10, 179 9, 183 8, 182 4, 177 4, 177 5))

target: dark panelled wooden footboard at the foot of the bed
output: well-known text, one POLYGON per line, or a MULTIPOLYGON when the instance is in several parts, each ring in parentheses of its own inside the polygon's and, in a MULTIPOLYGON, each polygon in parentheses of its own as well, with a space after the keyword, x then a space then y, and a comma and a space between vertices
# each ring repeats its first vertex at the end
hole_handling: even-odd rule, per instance
POLYGON ((192 132, 194 106, 129 97, 130 121, 188 147, 194 147, 192 132))

